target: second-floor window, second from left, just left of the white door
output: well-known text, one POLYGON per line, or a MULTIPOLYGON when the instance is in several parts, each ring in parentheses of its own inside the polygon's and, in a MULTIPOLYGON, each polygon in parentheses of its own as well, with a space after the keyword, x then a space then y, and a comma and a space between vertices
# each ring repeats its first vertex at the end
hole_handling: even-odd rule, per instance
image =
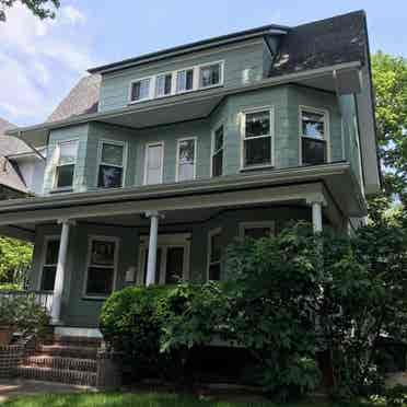
POLYGON ((125 168, 125 144, 102 141, 97 186, 119 188, 123 186, 125 168))

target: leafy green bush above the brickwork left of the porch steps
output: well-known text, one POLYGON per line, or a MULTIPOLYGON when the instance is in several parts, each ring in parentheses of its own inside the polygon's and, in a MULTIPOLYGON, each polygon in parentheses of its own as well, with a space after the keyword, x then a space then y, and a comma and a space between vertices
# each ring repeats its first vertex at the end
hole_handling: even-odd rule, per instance
POLYGON ((12 326, 24 336, 42 334, 49 318, 34 294, 0 299, 0 326, 12 326))

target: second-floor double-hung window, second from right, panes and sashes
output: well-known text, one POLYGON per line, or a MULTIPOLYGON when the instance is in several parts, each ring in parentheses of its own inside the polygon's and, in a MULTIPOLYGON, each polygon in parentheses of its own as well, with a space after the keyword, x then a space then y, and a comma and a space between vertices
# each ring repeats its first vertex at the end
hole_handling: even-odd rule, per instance
POLYGON ((243 167, 272 165, 271 111, 243 116, 243 167))

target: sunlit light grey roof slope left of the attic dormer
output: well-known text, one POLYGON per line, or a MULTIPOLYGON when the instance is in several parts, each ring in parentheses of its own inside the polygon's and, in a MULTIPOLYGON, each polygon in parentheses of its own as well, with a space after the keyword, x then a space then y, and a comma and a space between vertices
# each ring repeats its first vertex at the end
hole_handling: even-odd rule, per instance
POLYGON ((75 115, 96 113, 100 86, 101 77, 98 74, 80 79, 47 118, 47 121, 58 121, 75 115))

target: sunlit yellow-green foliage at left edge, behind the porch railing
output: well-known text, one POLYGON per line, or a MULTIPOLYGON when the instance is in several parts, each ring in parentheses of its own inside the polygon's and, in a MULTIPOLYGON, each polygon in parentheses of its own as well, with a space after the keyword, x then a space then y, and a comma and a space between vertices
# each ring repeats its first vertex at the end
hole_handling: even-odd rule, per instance
POLYGON ((31 264, 33 246, 10 237, 0 237, 0 283, 21 284, 31 264))

